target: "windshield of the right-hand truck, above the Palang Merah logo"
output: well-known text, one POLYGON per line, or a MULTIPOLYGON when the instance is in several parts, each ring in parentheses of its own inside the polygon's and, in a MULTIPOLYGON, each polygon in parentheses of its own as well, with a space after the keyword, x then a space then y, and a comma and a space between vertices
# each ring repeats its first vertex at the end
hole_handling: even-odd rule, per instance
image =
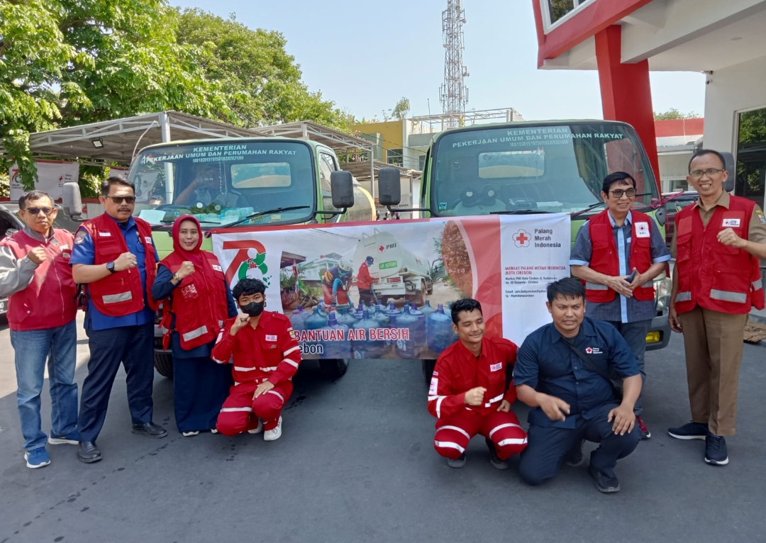
POLYGON ((617 171, 636 179, 637 204, 658 196, 647 154, 622 123, 457 130, 445 132, 433 149, 436 215, 581 211, 602 201, 601 183, 617 171))

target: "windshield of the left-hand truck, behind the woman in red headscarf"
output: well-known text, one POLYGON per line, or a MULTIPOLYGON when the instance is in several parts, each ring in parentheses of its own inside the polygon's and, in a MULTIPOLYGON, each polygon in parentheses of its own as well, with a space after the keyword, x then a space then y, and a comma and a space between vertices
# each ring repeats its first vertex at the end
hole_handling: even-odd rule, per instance
POLYGON ((302 142, 257 139, 149 147, 129 172, 136 185, 134 214, 152 224, 193 214, 204 227, 214 227, 290 208, 244 224, 307 221, 316 207, 312 156, 302 142))

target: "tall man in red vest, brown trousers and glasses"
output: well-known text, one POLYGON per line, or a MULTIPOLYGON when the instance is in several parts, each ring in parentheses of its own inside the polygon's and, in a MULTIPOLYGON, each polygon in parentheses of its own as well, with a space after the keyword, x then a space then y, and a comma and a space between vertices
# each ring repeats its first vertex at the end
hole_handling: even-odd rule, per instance
POLYGON ((723 190, 723 156, 699 149, 686 181, 699 200, 676 214, 670 252, 676 257, 669 323, 683 332, 692 421, 668 430, 679 440, 705 440, 705 462, 728 463, 745 323, 764 309, 758 260, 766 259, 766 218, 747 198, 723 190))

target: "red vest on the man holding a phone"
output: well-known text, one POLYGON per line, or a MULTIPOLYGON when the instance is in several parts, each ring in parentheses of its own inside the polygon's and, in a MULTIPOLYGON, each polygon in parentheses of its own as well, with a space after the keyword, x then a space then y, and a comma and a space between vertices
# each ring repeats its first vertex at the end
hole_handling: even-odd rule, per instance
MULTIPOLYGON (((640 213, 630 211, 630 261, 628 262, 628 274, 633 268, 638 273, 647 271, 652 265, 651 233, 653 226, 652 218, 640 213)), ((588 267, 598 273, 609 276, 620 275, 620 257, 617 254, 617 244, 614 243, 614 229, 609 220, 608 210, 601 211, 588 221, 588 231, 591 234, 591 246, 593 253, 588 267)), ((588 302, 604 303, 614 299, 615 292, 608 286, 597 283, 585 283, 585 299, 588 302)), ((653 282, 644 283, 633 290, 633 296, 642 302, 654 299, 653 282)))

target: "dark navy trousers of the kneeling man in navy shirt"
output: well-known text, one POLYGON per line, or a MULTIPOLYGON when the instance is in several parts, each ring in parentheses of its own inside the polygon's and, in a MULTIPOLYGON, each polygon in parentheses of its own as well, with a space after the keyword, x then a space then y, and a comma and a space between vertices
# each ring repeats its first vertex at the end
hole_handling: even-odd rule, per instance
POLYGON ((607 477, 614 476, 617 460, 632 453, 641 440, 641 431, 637 425, 633 431, 623 436, 614 433, 613 423, 607 422, 609 411, 614 407, 617 404, 606 404, 588 420, 575 415, 574 428, 530 424, 527 431, 528 445, 519 459, 519 475, 530 485, 542 484, 558 473, 572 447, 576 447, 581 440, 588 440, 601 443, 591 453, 591 465, 607 477))

